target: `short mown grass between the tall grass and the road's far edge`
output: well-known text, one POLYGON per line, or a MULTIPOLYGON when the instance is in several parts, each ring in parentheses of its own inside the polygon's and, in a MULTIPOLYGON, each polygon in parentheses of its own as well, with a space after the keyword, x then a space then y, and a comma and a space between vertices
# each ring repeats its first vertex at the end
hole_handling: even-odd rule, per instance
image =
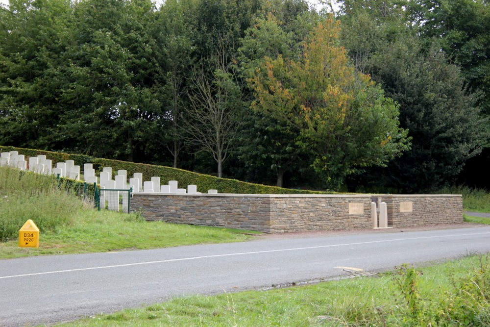
MULTIPOLYGON (((33 218, 35 222, 35 218, 33 218)), ((73 225, 40 233, 39 248, 19 248, 17 239, 0 242, 0 259, 42 254, 142 250, 180 245, 241 242, 254 232, 218 227, 146 222, 138 215, 85 210, 73 225)))

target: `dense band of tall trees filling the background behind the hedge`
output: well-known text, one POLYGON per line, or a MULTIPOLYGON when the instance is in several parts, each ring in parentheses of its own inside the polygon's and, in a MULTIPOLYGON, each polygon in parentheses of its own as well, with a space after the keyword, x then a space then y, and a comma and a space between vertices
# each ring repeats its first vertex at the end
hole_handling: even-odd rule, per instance
POLYGON ((489 10, 344 0, 339 26, 305 0, 10 0, 0 144, 287 187, 474 182, 489 10))

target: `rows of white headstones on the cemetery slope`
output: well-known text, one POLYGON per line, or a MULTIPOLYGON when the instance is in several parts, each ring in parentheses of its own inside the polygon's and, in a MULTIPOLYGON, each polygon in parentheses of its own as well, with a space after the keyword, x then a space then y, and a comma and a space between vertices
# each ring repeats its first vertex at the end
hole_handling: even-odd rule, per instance
MULTIPOLYGON (((65 162, 57 162, 56 167, 52 167, 52 160, 47 159, 46 155, 38 155, 36 157, 25 160, 23 154, 18 151, 1 152, 0 166, 8 166, 18 168, 20 170, 29 170, 38 174, 54 175, 67 177, 75 180, 80 180, 80 166, 74 164, 73 160, 65 162)), ((143 181, 142 173, 134 173, 132 178, 127 178, 126 170, 118 170, 117 175, 112 179, 112 167, 104 167, 99 174, 95 176, 95 169, 92 164, 86 163, 83 165, 83 179, 86 183, 98 183, 101 190, 132 190, 133 193, 164 193, 164 194, 201 194, 197 192, 196 185, 188 185, 187 189, 178 188, 176 180, 170 180, 168 185, 160 185, 160 177, 153 176, 148 181, 143 181)), ((208 190, 209 194, 218 194, 217 190, 208 190)), ((118 196, 119 197, 119 196, 118 196)), ((119 201, 117 201, 119 203, 119 201)), ((110 210, 127 210, 127 204, 119 208, 116 203, 108 202, 110 210)), ((105 207, 105 201, 101 198, 101 203, 105 207)))

